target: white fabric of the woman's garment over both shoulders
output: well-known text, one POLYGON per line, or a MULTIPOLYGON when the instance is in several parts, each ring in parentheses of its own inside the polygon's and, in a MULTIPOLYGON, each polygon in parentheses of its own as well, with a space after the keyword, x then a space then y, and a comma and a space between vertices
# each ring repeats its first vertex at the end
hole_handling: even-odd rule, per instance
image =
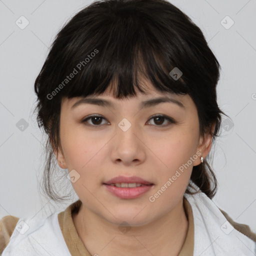
MULTIPOLYGON (((184 196, 193 213, 193 256, 256 255, 256 242, 234 229, 204 193, 184 196)), ((19 219, 2 256, 71 256, 57 214, 55 212, 46 218, 19 219)))

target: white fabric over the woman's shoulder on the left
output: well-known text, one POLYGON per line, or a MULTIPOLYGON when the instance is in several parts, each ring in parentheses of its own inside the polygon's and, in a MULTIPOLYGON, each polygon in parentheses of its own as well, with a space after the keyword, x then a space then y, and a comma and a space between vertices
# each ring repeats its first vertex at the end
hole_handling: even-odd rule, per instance
POLYGON ((10 233, 12 234, 7 236, 7 244, 6 239, 3 239, 0 255, 34 256, 44 255, 48 251, 52 256, 71 256, 61 233, 58 212, 19 218, 12 223, 10 233))

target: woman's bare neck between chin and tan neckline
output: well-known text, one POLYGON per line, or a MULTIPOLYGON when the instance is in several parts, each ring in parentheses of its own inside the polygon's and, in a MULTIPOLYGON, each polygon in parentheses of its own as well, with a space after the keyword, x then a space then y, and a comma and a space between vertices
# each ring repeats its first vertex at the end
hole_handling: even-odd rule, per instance
POLYGON ((121 232, 117 225, 85 208, 83 204, 72 218, 86 249, 91 255, 100 256, 140 253, 177 256, 188 229, 183 199, 161 218, 143 226, 128 227, 130 229, 127 232, 121 232))

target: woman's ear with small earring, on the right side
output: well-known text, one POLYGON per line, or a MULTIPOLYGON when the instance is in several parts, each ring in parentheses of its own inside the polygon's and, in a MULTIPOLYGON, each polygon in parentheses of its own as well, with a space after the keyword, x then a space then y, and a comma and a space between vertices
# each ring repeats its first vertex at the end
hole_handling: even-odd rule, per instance
MULTIPOLYGON (((210 127, 211 133, 214 132, 215 124, 216 124, 215 122, 212 123, 210 127)), ((194 160, 193 166, 199 165, 201 163, 201 156, 203 157, 203 159, 207 156, 207 154, 211 149, 211 145, 212 145, 212 135, 210 134, 210 132, 204 133, 203 136, 200 136, 199 143, 195 152, 196 155, 198 155, 199 157, 196 160, 194 160)))

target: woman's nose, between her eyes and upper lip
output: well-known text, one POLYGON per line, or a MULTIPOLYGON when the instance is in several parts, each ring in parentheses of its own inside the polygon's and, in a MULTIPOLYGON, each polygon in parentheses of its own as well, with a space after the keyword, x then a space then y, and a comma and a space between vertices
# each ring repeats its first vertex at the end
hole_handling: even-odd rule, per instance
POLYGON ((111 148, 112 161, 125 166, 141 164, 146 157, 141 132, 125 118, 116 127, 111 148))

